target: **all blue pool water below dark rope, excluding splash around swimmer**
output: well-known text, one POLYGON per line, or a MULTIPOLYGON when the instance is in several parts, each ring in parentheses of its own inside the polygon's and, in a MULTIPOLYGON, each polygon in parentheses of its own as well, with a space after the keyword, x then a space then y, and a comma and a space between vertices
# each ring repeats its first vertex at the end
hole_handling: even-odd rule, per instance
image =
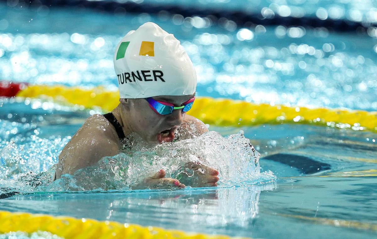
MULTIPOLYGON (((375 39, 368 35, 266 26, 251 29, 253 37, 244 39, 238 28, 174 24, 173 16, 0 7, 0 23, 8 19, 0 34, 1 79, 114 88, 115 44, 128 30, 155 21, 186 47, 200 96, 377 108, 375 39), (80 24, 60 24, 63 18, 80 24)), ((0 184, 17 186, 11 175, 47 171, 90 114, 39 100, 0 99, 0 184), (7 171, 4 162, 18 171, 7 171)), ((4 196, 0 210, 254 238, 377 235, 374 132, 297 124, 250 127, 242 120, 239 127, 209 129, 223 136, 242 130, 261 153, 262 175, 267 171, 270 177, 184 190, 31 190, 4 196)))

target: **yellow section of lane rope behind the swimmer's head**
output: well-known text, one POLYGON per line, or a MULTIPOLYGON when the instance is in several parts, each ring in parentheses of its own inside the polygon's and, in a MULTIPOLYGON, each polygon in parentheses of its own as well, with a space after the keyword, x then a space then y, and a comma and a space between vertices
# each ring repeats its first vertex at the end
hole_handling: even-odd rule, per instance
MULTIPOLYGON (((59 103, 82 105, 85 108, 99 107, 107 112, 113 110, 119 103, 118 91, 109 91, 104 87, 32 85, 21 90, 17 96, 40 99, 47 97, 59 103)), ((377 131, 376 111, 271 106, 242 100, 198 97, 190 110, 190 115, 204 123, 218 126, 300 123, 377 131)))

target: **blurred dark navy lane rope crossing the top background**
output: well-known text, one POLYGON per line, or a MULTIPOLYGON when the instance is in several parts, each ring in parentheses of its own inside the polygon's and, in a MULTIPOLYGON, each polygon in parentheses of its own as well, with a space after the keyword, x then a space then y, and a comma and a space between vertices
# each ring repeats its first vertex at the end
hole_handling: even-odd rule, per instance
POLYGON ((79 7, 89 8, 105 12, 131 12, 131 13, 149 13, 158 14, 165 11, 168 14, 180 14, 183 17, 209 17, 216 22, 220 18, 234 21, 239 27, 250 27, 252 25, 277 26, 283 25, 287 27, 303 26, 303 27, 326 27, 338 32, 349 32, 355 30, 367 30, 369 27, 377 27, 377 24, 356 22, 348 19, 319 19, 314 16, 304 17, 282 17, 277 14, 269 18, 265 18, 261 14, 261 9, 256 12, 233 11, 224 8, 205 9, 203 6, 176 6, 164 5, 163 3, 135 3, 135 2, 115 2, 112 0, 87 1, 87 0, 30 0, 28 3, 22 0, 0 0, 8 2, 9 6, 41 6, 48 7, 79 7), (9 4, 14 2, 14 4, 9 4))

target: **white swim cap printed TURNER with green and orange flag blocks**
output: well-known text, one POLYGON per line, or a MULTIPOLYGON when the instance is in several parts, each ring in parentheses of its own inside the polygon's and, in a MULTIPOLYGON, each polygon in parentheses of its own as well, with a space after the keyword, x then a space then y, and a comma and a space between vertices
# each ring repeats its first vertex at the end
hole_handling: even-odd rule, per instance
POLYGON ((194 66, 180 42, 147 22, 124 36, 114 53, 121 98, 190 95, 196 89, 194 66))

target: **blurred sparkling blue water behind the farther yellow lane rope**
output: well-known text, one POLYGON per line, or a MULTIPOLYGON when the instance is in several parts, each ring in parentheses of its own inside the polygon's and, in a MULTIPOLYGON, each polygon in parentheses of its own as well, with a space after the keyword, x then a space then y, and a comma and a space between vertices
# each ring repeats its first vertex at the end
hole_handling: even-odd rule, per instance
MULTIPOLYGON (((39 1, 33 3, 37 5, 36 2, 39 1)), ((367 26, 375 23, 377 10, 365 7, 372 2, 340 2, 247 1, 247 6, 254 12, 268 7, 276 14, 277 9, 300 8, 305 17, 315 9, 331 12, 340 8, 344 14, 339 18, 352 20, 353 12, 358 12, 363 16, 360 21, 367 26)), ((152 3, 162 2, 143 2, 152 3)), ((197 6, 196 1, 176 4, 197 6)), ((203 8, 242 7, 238 1, 197 4, 203 8)), ((187 50, 198 73, 201 95, 256 103, 377 109, 377 43, 373 26, 352 32, 284 25, 251 24, 245 28, 210 16, 102 11, 93 17, 93 11, 85 8, 62 12, 45 5, 23 10, 19 5, 9 8, 2 4, 0 11, 2 79, 115 88, 113 49, 129 30, 153 21, 173 32, 187 50)))

